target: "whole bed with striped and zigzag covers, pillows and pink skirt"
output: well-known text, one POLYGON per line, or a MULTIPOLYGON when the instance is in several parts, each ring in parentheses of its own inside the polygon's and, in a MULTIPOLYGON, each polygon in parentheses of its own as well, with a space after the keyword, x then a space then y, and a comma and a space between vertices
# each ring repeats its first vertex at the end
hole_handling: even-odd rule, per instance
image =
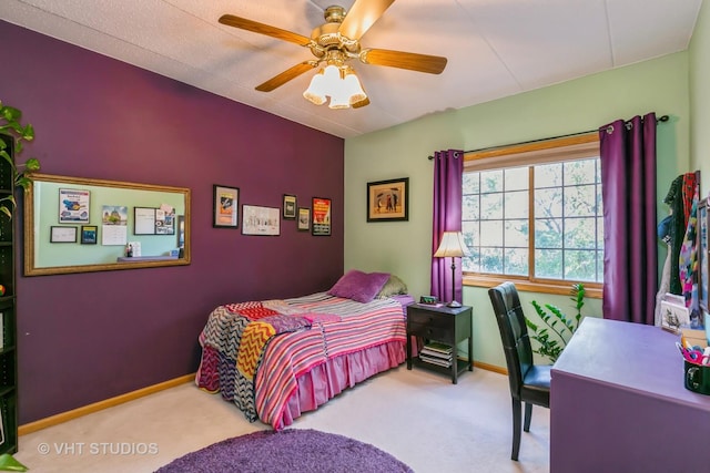
POLYGON ((402 364, 412 302, 396 276, 351 270, 325 292, 219 306, 199 337, 195 382, 282 430, 402 364))

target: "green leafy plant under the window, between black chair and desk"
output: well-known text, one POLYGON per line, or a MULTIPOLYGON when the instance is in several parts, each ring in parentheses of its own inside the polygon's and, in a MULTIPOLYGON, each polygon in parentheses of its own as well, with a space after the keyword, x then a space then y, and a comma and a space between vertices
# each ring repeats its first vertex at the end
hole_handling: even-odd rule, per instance
POLYGON ((575 330, 579 327, 581 320, 581 308, 585 306, 585 285, 579 282, 572 285, 570 299, 575 302, 577 313, 574 317, 567 317, 559 307, 551 304, 540 306, 537 301, 532 301, 532 307, 542 322, 547 326, 538 326, 525 318, 525 325, 531 332, 530 338, 538 342, 538 347, 534 350, 536 353, 549 358, 555 363, 567 342, 571 339, 575 330), (547 309, 547 310, 546 310, 547 309), (549 312, 548 312, 549 311, 549 312))

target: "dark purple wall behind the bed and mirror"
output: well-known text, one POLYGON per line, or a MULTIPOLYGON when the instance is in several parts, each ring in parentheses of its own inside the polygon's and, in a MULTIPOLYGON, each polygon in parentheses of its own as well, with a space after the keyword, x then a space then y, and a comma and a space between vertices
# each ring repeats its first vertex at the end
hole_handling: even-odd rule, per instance
POLYGON ((0 44, 0 100, 36 128, 20 162, 192 189, 190 266, 19 271, 21 424, 194 372, 215 306, 325 290, 343 274, 342 138, 3 21, 0 44), (294 220, 282 220, 278 237, 212 228, 213 184, 240 187, 240 204, 331 197, 332 236, 297 232, 294 220))

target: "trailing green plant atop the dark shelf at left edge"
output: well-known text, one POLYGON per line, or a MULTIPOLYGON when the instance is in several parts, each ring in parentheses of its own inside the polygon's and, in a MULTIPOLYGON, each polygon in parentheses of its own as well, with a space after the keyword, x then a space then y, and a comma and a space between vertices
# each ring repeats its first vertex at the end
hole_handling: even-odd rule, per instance
MULTIPOLYGON (((0 102, 0 134, 3 134, 13 142, 14 160, 10 156, 8 143, 0 140, 0 156, 6 160, 12 168, 14 185, 27 189, 32 183, 30 174, 40 169, 40 162, 30 157, 22 164, 18 164, 18 156, 22 153, 26 142, 34 140, 34 128, 32 125, 22 125, 22 112, 0 102)), ((0 198, 0 212, 12 218, 12 212, 17 206, 14 195, 7 195, 0 198)))

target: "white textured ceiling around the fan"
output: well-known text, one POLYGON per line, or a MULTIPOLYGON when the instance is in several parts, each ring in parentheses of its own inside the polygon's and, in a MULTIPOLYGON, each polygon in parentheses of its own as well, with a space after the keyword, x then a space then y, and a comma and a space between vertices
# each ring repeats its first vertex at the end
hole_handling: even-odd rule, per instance
POLYGON ((2 0, 0 18, 316 130, 352 137, 688 48, 702 0, 398 0, 363 48, 444 55, 440 75, 352 63, 371 97, 303 99, 313 72, 254 88, 307 48, 220 24, 224 13, 305 37, 353 0, 2 0))

